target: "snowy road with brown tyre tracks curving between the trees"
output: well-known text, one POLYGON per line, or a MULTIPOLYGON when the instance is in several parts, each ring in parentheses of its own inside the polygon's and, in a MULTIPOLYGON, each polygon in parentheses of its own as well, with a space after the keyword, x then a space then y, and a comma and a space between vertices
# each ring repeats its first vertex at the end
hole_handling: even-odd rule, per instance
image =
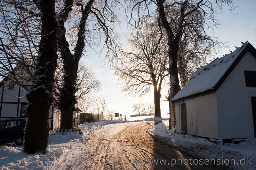
MULTIPOLYGON (((146 130, 154 121, 118 123, 94 131, 76 161, 66 169, 217 169, 206 165, 173 165, 171 159, 189 159, 167 144, 151 137, 146 130), (138 158, 137 158, 138 157, 138 158), (136 162, 134 163, 134 159, 136 162), (152 162, 150 159, 158 160, 152 162), (160 161, 166 159, 165 165, 160 161), (148 163, 144 163, 147 161, 148 163), (137 165, 135 165, 137 164, 137 165)), ((174 163, 174 161, 173 161, 174 163)))

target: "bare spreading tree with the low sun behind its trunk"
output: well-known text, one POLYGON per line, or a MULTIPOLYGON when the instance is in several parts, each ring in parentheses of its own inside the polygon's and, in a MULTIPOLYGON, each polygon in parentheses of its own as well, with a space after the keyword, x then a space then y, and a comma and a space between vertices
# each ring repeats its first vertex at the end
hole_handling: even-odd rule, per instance
POLYGON ((140 93, 140 97, 154 90, 155 117, 161 117, 161 88, 168 72, 167 44, 157 22, 148 23, 128 40, 131 52, 120 56, 115 74, 123 90, 140 93))

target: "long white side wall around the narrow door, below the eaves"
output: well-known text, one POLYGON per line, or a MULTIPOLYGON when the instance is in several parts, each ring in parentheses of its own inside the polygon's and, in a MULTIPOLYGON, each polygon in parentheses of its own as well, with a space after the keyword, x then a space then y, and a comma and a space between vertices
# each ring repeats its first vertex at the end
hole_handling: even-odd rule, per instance
POLYGON ((180 105, 182 103, 186 103, 187 106, 188 134, 218 139, 216 93, 214 92, 195 98, 186 99, 184 102, 181 100, 176 102, 177 133, 181 132, 180 105))

